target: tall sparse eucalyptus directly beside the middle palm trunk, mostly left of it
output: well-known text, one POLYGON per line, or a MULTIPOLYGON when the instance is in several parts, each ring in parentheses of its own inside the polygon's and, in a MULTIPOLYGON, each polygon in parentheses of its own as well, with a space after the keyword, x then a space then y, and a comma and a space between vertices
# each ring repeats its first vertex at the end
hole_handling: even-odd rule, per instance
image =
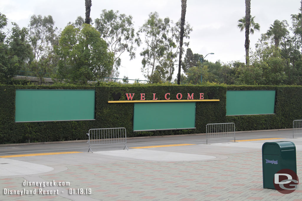
MULTIPOLYGON (((140 27, 138 33, 143 35, 145 45, 140 53, 143 56, 141 70, 147 79, 171 81, 180 52, 180 25, 180 21, 174 24, 169 17, 162 19, 154 12, 140 27)), ((186 23, 184 38, 189 38, 191 31, 190 24, 186 23)), ((188 46, 189 43, 184 44, 188 46)))

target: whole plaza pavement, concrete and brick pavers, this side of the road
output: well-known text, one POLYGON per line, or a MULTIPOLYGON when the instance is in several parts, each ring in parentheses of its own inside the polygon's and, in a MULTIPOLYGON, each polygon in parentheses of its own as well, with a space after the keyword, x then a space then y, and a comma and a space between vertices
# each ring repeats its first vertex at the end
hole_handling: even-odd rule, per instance
MULTIPOLYGON (((302 201, 301 185, 290 194, 262 188, 266 141, 0 158, 0 200, 302 201), (13 191, 24 189, 22 196, 13 191)), ((302 138, 282 141, 296 144, 302 178, 302 138)))

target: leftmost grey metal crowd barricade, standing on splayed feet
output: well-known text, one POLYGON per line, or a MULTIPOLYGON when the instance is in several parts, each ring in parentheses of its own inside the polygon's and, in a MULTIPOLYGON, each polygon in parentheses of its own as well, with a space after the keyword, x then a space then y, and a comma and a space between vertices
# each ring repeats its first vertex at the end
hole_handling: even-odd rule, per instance
POLYGON ((125 144, 127 148, 127 136, 126 128, 96 128, 90 129, 86 133, 89 137, 89 150, 91 150, 92 145, 103 145, 103 144, 125 144))

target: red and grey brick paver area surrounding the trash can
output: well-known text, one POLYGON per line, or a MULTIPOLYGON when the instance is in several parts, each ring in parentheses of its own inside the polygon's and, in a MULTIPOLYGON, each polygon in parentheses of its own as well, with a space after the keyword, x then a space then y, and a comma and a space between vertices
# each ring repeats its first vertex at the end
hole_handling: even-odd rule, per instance
MULTIPOLYGON (((262 153, 242 152, 226 154, 227 159, 194 162, 123 161, 68 165, 68 170, 46 174, 46 181, 70 182, 63 188, 73 192, 89 192, 77 195, 79 200, 88 197, 96 200, 289 200, 302 201, 301 187, 290 194, 263 189, 262 153), (81 191, 82 189, 82 191, 81 191), (301 189, 301 190, 300 190, 301 189)), ((297 172, 302 178, 302 152, 297 151, 297 172)), ((23 177, 0 180, 2 188, 23 189, 23 177)), ((301 185, 299 185, 301 186, 301 185)), ((32 187, 25 186, 27 190, 32 187)), ((3 190, 2 190, 3 193, 3 190)), ((3 195, 3 200, 69 200, 59 195, 3 195)))

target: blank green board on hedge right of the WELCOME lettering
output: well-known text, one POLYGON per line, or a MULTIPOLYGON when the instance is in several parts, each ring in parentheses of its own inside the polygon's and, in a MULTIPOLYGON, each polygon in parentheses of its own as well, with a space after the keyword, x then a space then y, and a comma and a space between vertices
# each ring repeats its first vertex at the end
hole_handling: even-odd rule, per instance
POLYGON ((275 90, 226 91, 226 115, 274 114, 275 90))

